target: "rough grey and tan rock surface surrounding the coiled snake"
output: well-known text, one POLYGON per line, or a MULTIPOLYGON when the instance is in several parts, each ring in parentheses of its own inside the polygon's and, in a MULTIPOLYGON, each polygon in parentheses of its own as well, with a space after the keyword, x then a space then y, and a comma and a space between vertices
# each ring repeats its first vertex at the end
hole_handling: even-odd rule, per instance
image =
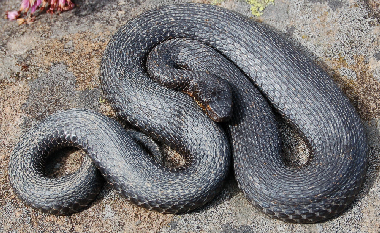
MULTIPOLYGON (((2 0, 0 15, 20 2, 2 0)), ((6 168, 21 134, 62 109, 91 108, 114 117, 98 79, 107 42, 129 19, 173 2, 183 1, 78 0, 74 10, 37 14, 30 25, 0 19, 0 232, 379 232, 380 10, 375 0, 275 0, 262 5, 261 16, 253 16, 244 1, 215 2, 302 46, 360 113, 370 141, 369 171, 362 192, 341 216, 309 225, 270 219, 250 205, 232 176, 212 203, 184 215, 136 207, 108 186, 90 208, 72 216, 43 214, 17 199, 6 168)), ((68 170, 78 163, 72 157, 68 170)))

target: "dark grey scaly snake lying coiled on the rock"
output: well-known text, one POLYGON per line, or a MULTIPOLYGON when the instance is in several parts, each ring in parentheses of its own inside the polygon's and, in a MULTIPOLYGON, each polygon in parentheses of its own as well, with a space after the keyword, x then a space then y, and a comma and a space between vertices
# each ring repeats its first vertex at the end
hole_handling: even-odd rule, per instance
POLYGON ((109 42, 101 81, 119 115, 152 139, 125 133, 116 121, 92 111, 50 116, 23 136, 11 157, 10 182, 26 203, 69 214, 95 197, 100 181, 90 159, 70 176, 43 176, 45 157, 67 146, 85 150, 127 199, 164 213, 186 212, 215 196, 229 169, 230 146, 240 188, 275 218, 323 221, 346 209, 360 190, 367 142, 348 99, 289 42, 237 13, 198 4, 146 12, 109 42), (147 75, 147 54, 158 44, 164 52, 151 53, 149 73, 173 89, 147 75), (158 63, 164 68, 155 71, 158 63), (179 76, 170 81, 173 74, 179 76), (227 122, 215 123, 196 102, 214 120, 227 122), (284 162, 275 115, 305 138, 312 151, 306 165, 284 162), (149 154, 161 144, 182 153, 186 164, 169 168, 157 162, 149 154))

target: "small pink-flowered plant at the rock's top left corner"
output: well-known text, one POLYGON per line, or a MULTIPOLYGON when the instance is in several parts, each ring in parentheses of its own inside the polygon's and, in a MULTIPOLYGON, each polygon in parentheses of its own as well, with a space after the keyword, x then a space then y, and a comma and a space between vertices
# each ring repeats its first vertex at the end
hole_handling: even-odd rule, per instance
POLYGON ((71 0, 22 0, 18 11, 7 11, 6 18, 17 20, 19 24, 32 23, 35 19, 33 16, 37 10, 53 14, 55 12, 68 11, 75 7, 71 0), (28 11, 30 14, 28 15, 28 11))

